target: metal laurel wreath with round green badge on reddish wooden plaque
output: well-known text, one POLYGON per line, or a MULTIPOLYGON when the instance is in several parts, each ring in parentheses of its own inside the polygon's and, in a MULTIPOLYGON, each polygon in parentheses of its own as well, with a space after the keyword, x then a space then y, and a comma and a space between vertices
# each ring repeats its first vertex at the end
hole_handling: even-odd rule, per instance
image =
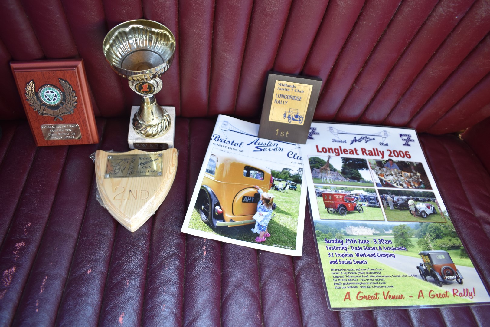
POLYGON ((68 81, 58 78, 63 93, 54 85, 46 84, 41 86, 36 93, 36 85, 32 79, 25 85, 25 97, 27 103, 41 116, 51 116, 63 120, 61 116, 73 114, 76 108, 77 97, 72 85, 68 81), (56 106, 56 107, 55 107, 56 106))

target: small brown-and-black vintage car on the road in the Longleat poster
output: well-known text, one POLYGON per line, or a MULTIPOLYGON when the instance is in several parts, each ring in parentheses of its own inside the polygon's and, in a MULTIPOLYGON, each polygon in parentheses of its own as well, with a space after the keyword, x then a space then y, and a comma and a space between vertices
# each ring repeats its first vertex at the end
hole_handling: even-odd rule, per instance
POLYGON ((457 281, 463 284, 463 275, 459 272, 446 251, 422 251, 418 253, 423 262, 417 266, 418 273, 423 280, 433 278, 437 286, 443 282, 457 281))

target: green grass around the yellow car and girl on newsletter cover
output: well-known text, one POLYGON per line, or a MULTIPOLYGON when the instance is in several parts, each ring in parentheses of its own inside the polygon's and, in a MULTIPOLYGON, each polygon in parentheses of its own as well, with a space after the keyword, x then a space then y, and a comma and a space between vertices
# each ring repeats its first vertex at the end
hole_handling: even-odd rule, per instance
MULTIPOLYGON (((277 204, 277 207, 273 211, 275 216, 272 217, 268 225, 268 231, 271 236, 267 238, 266 242, 262 242, 261 244, 270 246, 275 244, 295 250, 301 186, 298 184, 296 191, 286 190, 280 192, 270 190, 269 193, 274 195, 274 202, 277 204)), ((201 220, 196 209, 193 210, 191 220, 189 221, 189 228, 252 243, 255 243, 255 238, 259 235, 250 230, 254 226, 254 224, 251 224, 237 227, 221 226, 212 228, 201 220)))

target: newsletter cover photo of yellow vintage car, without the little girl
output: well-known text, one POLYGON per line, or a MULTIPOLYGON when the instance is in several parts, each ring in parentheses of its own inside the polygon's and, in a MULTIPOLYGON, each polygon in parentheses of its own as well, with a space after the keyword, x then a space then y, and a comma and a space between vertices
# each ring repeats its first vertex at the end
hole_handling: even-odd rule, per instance
POLYGON ((302 176, 302 172, 294 172, 284 164, 214 151, 208 158, 189 228, 254 242, 257 234, 250 229, 255 226, 256 221, 252 217, 257 212, 260 199, 253 187, 257 185, 263 192, 273 195, 273 203, 276 204, 268 225, 271 236, 263 244, 294 249, 301 181, 295 185, 297 190, 292 190, 287 181, 274 178, 272 183, 272 173, 291 174, 294 178, 302 176), (284 186, 276 190, 281 184, 284 186))

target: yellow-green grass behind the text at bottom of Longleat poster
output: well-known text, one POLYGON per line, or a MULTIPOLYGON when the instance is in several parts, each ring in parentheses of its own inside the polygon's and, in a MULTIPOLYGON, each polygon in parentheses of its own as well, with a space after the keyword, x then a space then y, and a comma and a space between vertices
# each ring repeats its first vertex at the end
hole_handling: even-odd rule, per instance
MULTIPOLYGON (((391 306, 391 305, 436 305, 436 304, 454 304, 454 303, 471 303, 470 300, 465 298, 442 298, 442 299, 431 299, 428 294, 430 290, 434 290, 439 292, 440 290, 435 286, 434 283, 427 282, 421 280, 419 277, 385 277, 386 286, 389 287, 374 287, 374 286, 382 286, 382 285, 372 285, 371 288, 360 288, 360 285, 356 288, 335 288, 335 286, 346 287, 342 285, 334 285, 334 277, 332 275, 331 268, 333 269, 362 269, 362 268, 371 268, 371 269, 382 269, 381 275, 400 275, 398 270, 393 269, 387 265, 384 265, 378 262, 375 259, 371 258, 362 258, 363 260, 367 260, 368 264, 331 264, 330 260, 336 259, 336 257, 328 257, 328 252, 339 252, 345 253, 344 251, 326 251, 325 244, 322 242, 318 243, 320 249, 320 259, 321 265, 323 268, 323 275, 325 276, 325 282, 327 285, 328 298, 330 299, 330 305, 332 307, 372 307, 372 306, 391 306), (370 300, 370 301, 360 301, 356 300, 356 295, 359 291, 363 292, 363 295, 373 295, 375 292, 379 294, 379 300, 370 300), (390 291, 391 295, 403 294, 405 296, 404 300, 385 300, 383 297, 383 291, 390 291), (424 298, 417 298, 419 291, 423 292, 424 298), (343 301, 347 292, 350 292, 351 301, 343 301), (412 298, 410 298, 412 296, 412 298)), ((351 252, 351 251, 347 251, 351 252)), ((347 259, 347 258, 345 258, 347 259)), ((350 259, 350 258, 349 258, 350 259)), ((338 275, 339 276, 339 275, 338 275)), ((340 275, 342 278, 347 278, 343 275, 340 275)), ((341 282, 342 284, 342 282, 341 282)), ((367 287, 371 285, 366 285, 367 287)))

